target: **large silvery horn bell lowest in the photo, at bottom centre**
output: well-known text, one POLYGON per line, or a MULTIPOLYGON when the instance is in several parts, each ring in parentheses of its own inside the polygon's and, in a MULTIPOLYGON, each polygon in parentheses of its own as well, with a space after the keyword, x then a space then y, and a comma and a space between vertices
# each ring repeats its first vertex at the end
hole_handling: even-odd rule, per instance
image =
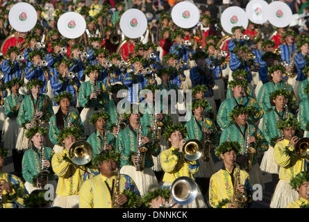
POLYGON ((197 198, 197 193, 197 183, 192 178, 181 176, 172 183, 171 194, 174 203, 169 207, 173 207, 175 204, 188 205, 197 198))

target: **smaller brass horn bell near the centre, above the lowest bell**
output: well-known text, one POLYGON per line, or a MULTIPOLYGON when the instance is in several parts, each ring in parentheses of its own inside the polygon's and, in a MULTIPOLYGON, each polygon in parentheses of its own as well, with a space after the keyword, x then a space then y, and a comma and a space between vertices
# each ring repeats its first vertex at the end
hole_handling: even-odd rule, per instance
POLYGON ((201 149, 203 144, 198 139, 189 139, 183 144, 183 151, 185 153, 185 159, 188 161, 196 161, 201 157, 201 149))

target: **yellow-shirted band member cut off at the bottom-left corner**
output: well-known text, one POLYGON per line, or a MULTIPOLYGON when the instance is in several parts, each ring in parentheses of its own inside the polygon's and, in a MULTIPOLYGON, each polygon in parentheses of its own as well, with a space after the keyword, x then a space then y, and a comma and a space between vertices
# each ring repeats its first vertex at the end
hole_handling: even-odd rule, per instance
POLYGON ((24 198, 27 196, 24 182, 13 174, 3 173, 7 156, 8 150, 0 147, 0 208, 24 208, 24 198))

